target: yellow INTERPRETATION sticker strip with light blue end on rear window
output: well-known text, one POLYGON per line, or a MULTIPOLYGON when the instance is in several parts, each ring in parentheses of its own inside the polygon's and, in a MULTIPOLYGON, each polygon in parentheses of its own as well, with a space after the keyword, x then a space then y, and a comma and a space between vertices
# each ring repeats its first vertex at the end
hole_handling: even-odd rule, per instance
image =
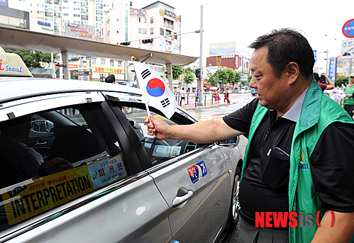
POLYGON ((126 176, 121 154, 118 154, 89 165, 1 188, 1 205, 9 225, 13 225, 126 176))

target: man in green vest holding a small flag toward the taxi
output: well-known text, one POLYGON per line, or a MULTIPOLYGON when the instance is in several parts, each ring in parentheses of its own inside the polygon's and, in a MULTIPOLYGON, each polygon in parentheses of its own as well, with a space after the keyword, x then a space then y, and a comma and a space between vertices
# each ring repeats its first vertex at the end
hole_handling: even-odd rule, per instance
POLYGON ((298 31, 272 30, 250 47, 249 85, 257 98, 193 125, 170 126, 151 115, 153 124, 145 120, 150 135, 196 143, 248 137, 238 197, 240 242, 349 242, 354 121, 312 77, 314 52, 298 31), (277 215, 285 225, 277 224, 277 215), (256 227, 262 221, 267 227, 256 227))

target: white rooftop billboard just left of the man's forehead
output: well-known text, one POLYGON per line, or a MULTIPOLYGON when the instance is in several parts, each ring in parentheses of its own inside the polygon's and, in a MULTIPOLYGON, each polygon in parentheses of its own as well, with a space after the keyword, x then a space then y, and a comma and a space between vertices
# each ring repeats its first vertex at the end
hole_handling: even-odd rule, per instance
POLYGON ((229 43, 213 43, 209 45, 209 57, 223 55, 238 55, 250 58, 250 48, 236 41, 229 43))

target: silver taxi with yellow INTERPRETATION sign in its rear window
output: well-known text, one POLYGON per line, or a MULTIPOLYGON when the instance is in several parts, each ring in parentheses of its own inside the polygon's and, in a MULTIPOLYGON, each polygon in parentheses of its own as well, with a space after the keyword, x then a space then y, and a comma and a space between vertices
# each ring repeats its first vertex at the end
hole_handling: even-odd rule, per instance
MULTIPOLYGON (((17 62, 2 67, 26 69, 17 62)), ((238 137, 156 140, 140 89, 9 76, 0 71, 0 242, 204 243, 236 226, 238 137), (18 147, 1 149, 6 139, 18 147), (29 154, 42 159, 27 163, 29 154)), ((150 111, 198 122, 181 107, 170 119, 150 111)))

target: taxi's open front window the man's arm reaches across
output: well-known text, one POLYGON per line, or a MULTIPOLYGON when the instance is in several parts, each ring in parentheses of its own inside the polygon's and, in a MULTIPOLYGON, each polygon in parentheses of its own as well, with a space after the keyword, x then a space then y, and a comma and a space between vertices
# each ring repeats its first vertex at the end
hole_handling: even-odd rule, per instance
MULTIPOLYGON (((145 119, 148 118, 148 112, 143 108, 129 107, 127 109, 128 112, 124 111, 126 118, 133 126, 133 130, 138 135, 140 142, 143 144, 143 147, 150 158, 150 162, 153 165, 178 157, 179 155, 185 154, 199 147, 199 145, 194 142, 169 139, 157 140, 154 137, 150 137, 147 134, 147 127, 144 123, 145 119)), ((157 118, 165 120, 169 125, 178 124, 154 111, 150 111, 150 113, 157 118)))

